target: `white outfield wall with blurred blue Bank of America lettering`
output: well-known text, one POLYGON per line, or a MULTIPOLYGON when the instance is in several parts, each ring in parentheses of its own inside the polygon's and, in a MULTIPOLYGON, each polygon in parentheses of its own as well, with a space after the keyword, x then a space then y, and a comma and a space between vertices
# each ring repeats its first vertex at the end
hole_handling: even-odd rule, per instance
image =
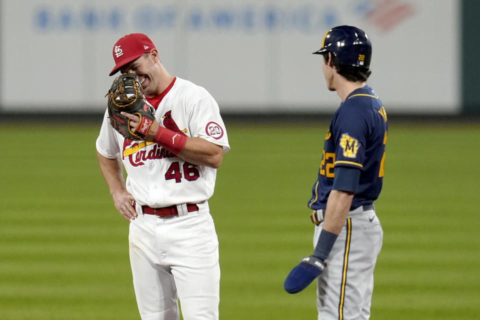
POLYGON ((207 88, 223 112, 328 113, 338 97, 311 52, 339 24, 368 32, 369 84, 389 112, 461 111, 457 0, 0 3, 3 112, 102 111, 113 43, 143 32, 166 68, 207 88))

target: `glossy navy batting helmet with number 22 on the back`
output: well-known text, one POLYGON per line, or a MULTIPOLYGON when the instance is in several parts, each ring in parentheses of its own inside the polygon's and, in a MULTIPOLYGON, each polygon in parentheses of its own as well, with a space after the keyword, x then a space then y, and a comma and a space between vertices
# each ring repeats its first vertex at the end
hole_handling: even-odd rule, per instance
POLYGON ((371 43, 368 35, 357 27, 340 25, 329 29, 321 42, 321 48, 313 54, 331 52, 340 64, 369 68, 371 43))

